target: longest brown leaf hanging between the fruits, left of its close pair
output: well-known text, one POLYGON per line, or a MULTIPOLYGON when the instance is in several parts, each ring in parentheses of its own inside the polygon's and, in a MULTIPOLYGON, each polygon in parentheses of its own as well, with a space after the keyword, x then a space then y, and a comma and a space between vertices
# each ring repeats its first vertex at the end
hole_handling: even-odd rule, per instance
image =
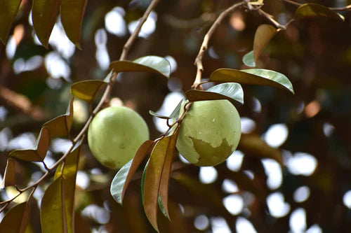
POLYGON ((154 146, 150 162, 147 166, 144 187, 144 210, 147 219, 157 232, 157 200, 159 198, 159 185, 161 174, 166 160, 171 136, 165 136, 154 146))

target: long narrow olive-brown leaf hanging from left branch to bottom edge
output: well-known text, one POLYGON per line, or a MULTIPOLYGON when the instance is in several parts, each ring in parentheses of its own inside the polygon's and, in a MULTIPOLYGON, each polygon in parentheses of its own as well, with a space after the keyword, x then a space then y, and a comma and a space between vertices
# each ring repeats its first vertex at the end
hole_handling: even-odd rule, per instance
POLYGON ((74 192, 76 190, 76 177, 78 171, 81 141, 79 141, 72 152, 66 157, 65 164, 61 163, 55 171, 55 179, 62 177, 62 202, 65 202, 65 215, 67 232, 74 232, 74 192), (64 166, 62 168, 62 166, 64 166), (63 188, 64 187, 64 188, 63 188))

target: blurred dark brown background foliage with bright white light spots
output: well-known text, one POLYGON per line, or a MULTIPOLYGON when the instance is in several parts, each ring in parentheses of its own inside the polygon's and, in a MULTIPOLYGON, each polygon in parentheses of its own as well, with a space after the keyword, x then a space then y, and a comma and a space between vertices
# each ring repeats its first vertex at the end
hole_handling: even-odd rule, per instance
MULTIPOLYGON (((102 79, 118 59, 148 0, 88 1, 81 48, 65 36, 60 19, 49 49, 40 45, 29 17, 32 1, 23 0, 6 45, 0 43, 0 174, 8 153, 31 148, 41 125, 65 113, 69 86, 102 79)), ((347 0, 308 1, 340 7, 347 0)), ((148 111, 170 113, 189 90, 202 39, 230 0, 161 1, 152 12, 128 56, 166 57, 172 66, 167 81, 150 73, 125 73, 114 85, 111 104, 138 111, 155 139, 166 122, 148 111)), ((263 10, 281 24, 296 10, 284 1, 265 0, 263 10)), ((345 22, 327 18, 291 22, 279 31, 258 60, 258 68, 284 73, 295 95, 273 87, 243 85, 243 139, 263 139, 282 153, 284 166, 260 157, 260 151, 239 150, 216 167, 195 167, 176 158, 170 185, 169 222, 159 214, 161 232, 349 232, 351 227, 351 14, 345 22), (348 230, 347 230, 348 229, 348 230)), ((253 37, 265 18, 244 9, 230 15, 216 30, 204 57, 204 78, 219 68, 248 69, 241 58, 252 50, 253 37)), ((88 106, 74 101, 72 134, 88 118, 88 106)), ((46 164, 69 147, 53 139, 46 164)), ((18 183, 44 174, 41 164, 16 162, 18 183)), ((102 167, 85 144, 77 175, 76 232, 154 232, 140 197, 141 172, 126 192, 124 206, 110 195, 116 171, 102 167)), ((2 178, 2 177, 0 177, 2 178)), ((30 226, 40 232, 39 202, 46 185, 32 199, 30 226), (38 202, 35 202, 37 200, 38 202)), ((14 188, 1 192, 0 201, 14 188)), ((21 202, 17 200, 17 202, 21 202)), ((0 214, 0 218, 4 213, 0 214)))

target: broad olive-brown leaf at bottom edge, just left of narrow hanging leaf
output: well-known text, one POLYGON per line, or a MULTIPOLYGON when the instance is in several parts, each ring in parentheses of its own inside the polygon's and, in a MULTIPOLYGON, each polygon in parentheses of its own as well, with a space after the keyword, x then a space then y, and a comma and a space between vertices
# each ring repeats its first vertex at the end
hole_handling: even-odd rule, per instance
POLYGON ((65 178, 58 177, 51 183, 41 199, 41 232, 68 232, 65 207, 65 178))

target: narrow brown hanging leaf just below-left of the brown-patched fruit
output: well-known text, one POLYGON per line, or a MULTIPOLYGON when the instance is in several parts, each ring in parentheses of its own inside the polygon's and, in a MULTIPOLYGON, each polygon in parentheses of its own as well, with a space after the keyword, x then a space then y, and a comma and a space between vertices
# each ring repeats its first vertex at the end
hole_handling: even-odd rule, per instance
POLYGON ((168 143, 168 148, 166 151, 166 157, 164 159, 164 167, 162 169, 161 181, 159 184, 159 199, 161 199, 161 204, 159 202, 159 207, 164 213, 164 216, 169 218, 168 212, 168 188, 169 180, 171 178, 171 169, 174 156, 174 150, 176 150, 176 142, 178 138, 178 131, 171 135, 171 141, 168 143))

